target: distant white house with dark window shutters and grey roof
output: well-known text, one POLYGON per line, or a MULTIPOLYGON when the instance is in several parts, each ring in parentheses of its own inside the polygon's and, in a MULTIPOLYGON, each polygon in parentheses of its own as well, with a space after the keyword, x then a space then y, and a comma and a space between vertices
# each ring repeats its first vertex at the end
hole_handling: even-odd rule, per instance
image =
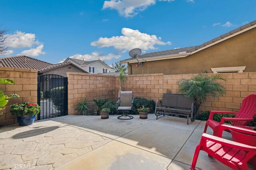
POLYGON ((75 63, 81 68, 83 68, 84 70, 88 70, 88 72, 94 73, 94 74, 116 72, 114 68, 103 63, 101 60, 84 61, 79 59, 67 58, 63 63, 66 63, 66 62, 75 63))

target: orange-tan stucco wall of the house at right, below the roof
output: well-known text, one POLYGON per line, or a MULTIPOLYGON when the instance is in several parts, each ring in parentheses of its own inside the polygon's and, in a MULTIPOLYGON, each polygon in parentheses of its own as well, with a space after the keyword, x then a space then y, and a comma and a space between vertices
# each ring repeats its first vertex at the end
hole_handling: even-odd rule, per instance
MULTIPOLYGON (((236 35, 188 57, 131 63, 132 74, 196 74, 211 68, 246 66, 244 72, 256 72, 256 28, 236 35)), ((128 74, 131 68, 128 66, 128 74)))

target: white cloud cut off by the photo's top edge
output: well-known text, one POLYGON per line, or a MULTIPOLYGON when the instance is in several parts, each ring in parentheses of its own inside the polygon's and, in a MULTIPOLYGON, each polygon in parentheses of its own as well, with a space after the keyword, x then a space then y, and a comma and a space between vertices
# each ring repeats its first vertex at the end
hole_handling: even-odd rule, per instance
MULTIPOLYGON (((174 0, 158 0, 158 1, 174 1, 174 0)), ((146 10, 148 6, 156 4, 156 0, 106 0, 103 9, 110 8, 117 10, 121 16, 133 17, 139 11, 146 10)))

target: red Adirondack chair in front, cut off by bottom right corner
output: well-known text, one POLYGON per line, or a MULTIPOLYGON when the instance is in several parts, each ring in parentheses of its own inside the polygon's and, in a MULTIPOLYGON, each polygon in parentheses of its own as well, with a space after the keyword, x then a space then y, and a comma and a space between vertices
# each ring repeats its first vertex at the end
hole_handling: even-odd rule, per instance
POLYGON ((200 150, 204 150, 208 156, 214 157, 234 170, 249 170, 247 162, 253 164, 256 169, 256 147, 221 138, 222 132, 226 129, 256 135, 256 131, 231 125, 221 125, 218 137, 203 133, 196 147, 190 170, 195 170, 200 150))

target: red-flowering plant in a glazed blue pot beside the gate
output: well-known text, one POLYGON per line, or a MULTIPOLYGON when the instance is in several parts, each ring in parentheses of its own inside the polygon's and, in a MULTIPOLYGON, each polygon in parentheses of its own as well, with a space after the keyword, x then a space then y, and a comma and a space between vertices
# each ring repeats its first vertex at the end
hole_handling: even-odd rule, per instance
POLYGON ((40 112, 40 106, 38 104, 24 102, 23 104, 12 104, 12 115, 17 116, 17 121, 20 126, 32 125, 35 121, 36 114, 40 112))

